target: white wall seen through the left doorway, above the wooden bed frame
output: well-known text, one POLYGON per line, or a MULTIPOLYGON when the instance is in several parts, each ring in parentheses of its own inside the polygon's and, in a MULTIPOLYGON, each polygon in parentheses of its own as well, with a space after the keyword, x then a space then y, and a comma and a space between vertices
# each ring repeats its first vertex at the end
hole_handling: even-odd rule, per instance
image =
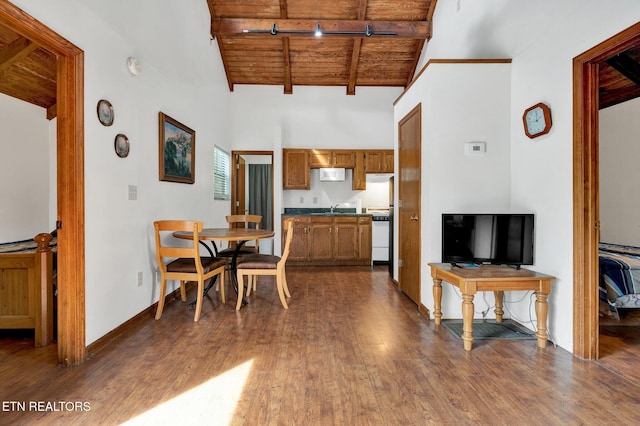
POLYGON ((0 243, 53 230, 48 126, 44 108, 0 94, 0 243))

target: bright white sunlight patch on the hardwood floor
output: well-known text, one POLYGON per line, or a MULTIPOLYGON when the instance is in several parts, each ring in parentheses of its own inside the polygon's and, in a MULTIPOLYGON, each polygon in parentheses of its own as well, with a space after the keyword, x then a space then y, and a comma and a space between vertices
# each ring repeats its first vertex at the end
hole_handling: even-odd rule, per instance
POLYGON ((247 361, 135 417, 125 425, 228 425, 251 372, 247 361))

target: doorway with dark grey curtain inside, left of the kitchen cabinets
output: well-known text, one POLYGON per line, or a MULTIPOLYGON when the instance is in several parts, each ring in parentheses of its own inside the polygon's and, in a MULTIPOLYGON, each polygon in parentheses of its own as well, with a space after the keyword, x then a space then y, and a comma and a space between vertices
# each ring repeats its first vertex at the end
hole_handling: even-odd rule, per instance
MULTIPOLYGON (((274 229, 273 151, 231 151, 231 214, 262 216, 261 229, 274 229)), ((260 241, 273 254, 273 240, 260 241)))

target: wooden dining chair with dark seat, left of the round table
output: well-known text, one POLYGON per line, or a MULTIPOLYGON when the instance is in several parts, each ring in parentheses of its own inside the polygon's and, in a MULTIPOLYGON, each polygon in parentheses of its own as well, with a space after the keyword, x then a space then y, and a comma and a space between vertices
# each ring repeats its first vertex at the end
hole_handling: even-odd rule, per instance
POLYGON ((216 275, 218 276, 220 284, 220 299, 222 303, 225 303, 224 271, 227 266, 227 260, 217 257, 200 256, 198 234, 202 231, 202 222, 189 220, 158 220, 153 222, 153 226, 156 234, 158 269, 160 270, 160 299, 158 300, 156 319, 158 320, 162 316, 167 291, 167 281, 170 280, 180 281, 180 298, 183 302, 187 301, 185 283, 187 281, 195 281, 198 283, 196 313, 193 317, 194 321, 200 319, 200 313, 202 312, 204 282, 213 279, 216 275), (163 243, 163 236, 176 231, 193 232, 193 241, 188 247, 176 247, 163 243))

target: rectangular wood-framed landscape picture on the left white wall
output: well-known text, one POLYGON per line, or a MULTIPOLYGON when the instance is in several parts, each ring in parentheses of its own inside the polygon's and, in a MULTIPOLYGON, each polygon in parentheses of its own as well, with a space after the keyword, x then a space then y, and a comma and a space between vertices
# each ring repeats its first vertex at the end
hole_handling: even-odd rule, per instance
POLYGON ((160 112, 160 180, 195 181, 196 132, 160 112))

